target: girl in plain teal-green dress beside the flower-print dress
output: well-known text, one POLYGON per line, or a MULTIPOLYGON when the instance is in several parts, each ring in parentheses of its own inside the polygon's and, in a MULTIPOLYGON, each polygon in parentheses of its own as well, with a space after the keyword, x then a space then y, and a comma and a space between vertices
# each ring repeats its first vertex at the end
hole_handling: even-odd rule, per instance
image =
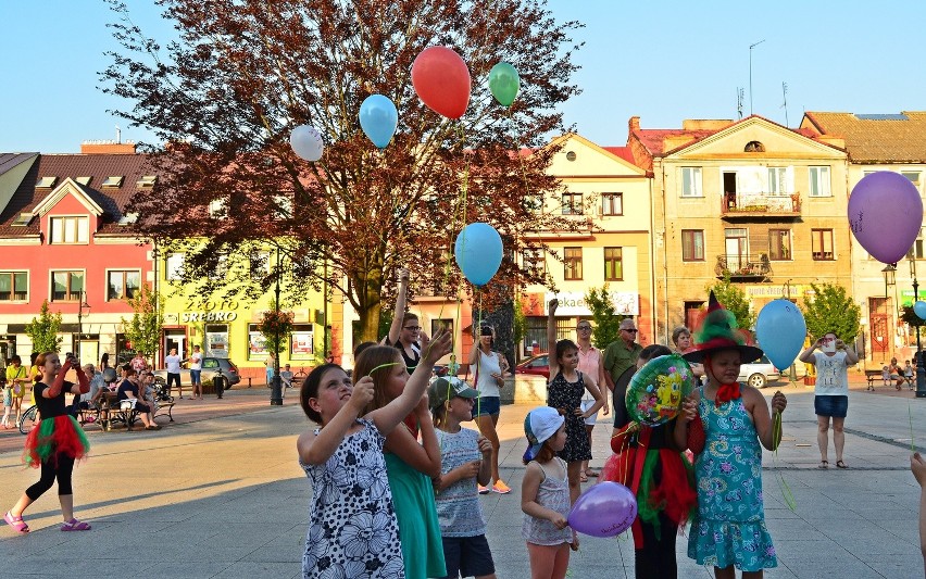
MULTIPOLYGON (((426 357, 424 348, 422 356, 426 357)), ((353 372, 355 377, 373 378, 373 402, 366 412, 386 406, 401 395, 409 380, 400 352, 385 345, 364 350, 353 372)), ((421 428, 422 443, 408 425, 401 424, 386 437, 385 446, 386 474, 399 519, 405 578, 445 577, 443 541, 431 484, 433 478, 440 477, 440 445, 426 394, 415 406, 413 415, 421 428)))

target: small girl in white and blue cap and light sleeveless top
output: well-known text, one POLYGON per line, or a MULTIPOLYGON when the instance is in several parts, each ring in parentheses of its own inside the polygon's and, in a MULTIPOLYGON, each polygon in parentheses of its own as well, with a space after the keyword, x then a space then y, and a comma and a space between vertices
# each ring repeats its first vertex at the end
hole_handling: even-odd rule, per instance
POLYGON ((524 418, 527 451, 521 483, 521 536, 527 542, 531 579, 563 579, 570 549, 578 537, 568 527, 570 486, 566 463, 556 454, 566 445, 565 417, 555 408, 539 406, 524 418))

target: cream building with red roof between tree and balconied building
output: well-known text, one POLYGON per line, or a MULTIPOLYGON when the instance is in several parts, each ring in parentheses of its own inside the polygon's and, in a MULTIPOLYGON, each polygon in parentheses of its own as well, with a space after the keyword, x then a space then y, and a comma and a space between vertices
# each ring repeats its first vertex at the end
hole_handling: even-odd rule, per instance
POLYGON ((653 343, 651 179, 631 161, 626 147, 600 147, 579 135, 553 141, 562 149, 549 173, 565 192, 546 199, 543 211, 591 217, 592 228, 581 232, 543 231, 538 237, 559 255, 524 255, 525 266, 546 268, 555 292, 539 286, 526 288, 525 347, 534 342, 547 350, 547 302, 555 297, 562 337, 575 338, 578 319, 588 318, 585 295, 605 284, 615 311, 634 316, 638 341, 653 343))

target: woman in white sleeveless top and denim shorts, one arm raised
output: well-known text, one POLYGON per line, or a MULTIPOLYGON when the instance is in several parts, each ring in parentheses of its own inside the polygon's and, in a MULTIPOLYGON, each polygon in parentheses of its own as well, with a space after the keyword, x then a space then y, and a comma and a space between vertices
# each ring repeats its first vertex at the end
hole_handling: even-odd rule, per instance
POLYGON ((474 324, 473 340, 478 343, 478 348, 470 352, 470 368, 475 376, 476 390, 479 391, 479 398, 473 405, 473 419, 479 427, 479 432, 492 443, 492 480, 495 481, 491 489, 479 486, 479 494, 486 494, 489 490, 508 494, 511 488, 499 475, 499 436, 496 432, 501 410, 499 389, 504 386, 508 361, 500 353, 492 352, 496 330, 491 326, 483 326, 479 328, 479 336, 476 336, 474 324))

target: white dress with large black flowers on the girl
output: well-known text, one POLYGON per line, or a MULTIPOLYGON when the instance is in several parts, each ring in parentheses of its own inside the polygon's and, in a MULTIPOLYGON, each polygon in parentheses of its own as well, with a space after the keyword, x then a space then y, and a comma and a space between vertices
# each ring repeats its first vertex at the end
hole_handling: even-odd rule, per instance
POLYGON ((304 578, 405 577, 383 457, 386 439, 372 421, 358 423, 364 428, 345 437, 325 464, 299 463, 312 481, 304 578))

